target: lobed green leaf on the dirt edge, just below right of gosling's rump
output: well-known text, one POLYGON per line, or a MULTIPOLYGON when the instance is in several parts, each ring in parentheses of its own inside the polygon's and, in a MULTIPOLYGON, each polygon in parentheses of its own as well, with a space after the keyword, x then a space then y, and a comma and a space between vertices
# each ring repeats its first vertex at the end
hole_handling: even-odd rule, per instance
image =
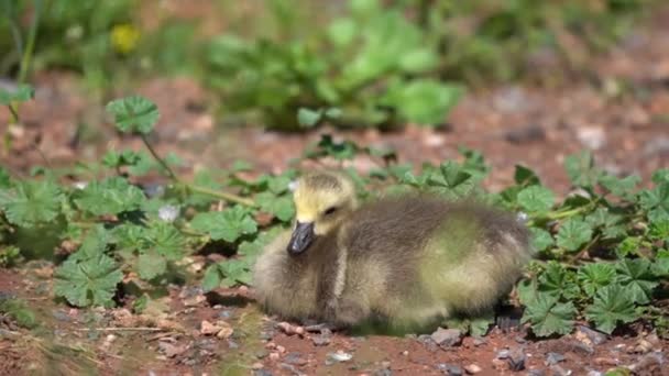
POLYGON ((525 309, 523 322, 529 322, 538 336, 569 334, 577 309, 573 303, 560 303, 556 297, 540 294, 525 309))

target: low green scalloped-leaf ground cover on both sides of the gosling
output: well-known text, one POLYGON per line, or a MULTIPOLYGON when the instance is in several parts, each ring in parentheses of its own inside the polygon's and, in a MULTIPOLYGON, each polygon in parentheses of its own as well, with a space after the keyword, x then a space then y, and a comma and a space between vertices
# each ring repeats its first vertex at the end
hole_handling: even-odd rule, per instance
MULTIPOLYGON (((30 98, 31 92, 26 88, 6 95, 11 99, 6 102, 30 98)), ((3 264, 50 259, 56 263, 53 294, 63 305, 125 307, 139 314, 154 306, 171 284, 191 280, 202 292, 252 287, 255 257, 293 218, 289 183, 298 172, 248 179, 243 173, 249 167, 240 162, 230 170, 201 170, 189 181, 173 169, 178 157, 164 159, 151 144, 160 117, 153 102, 133 96, 111 101, 107 111, 119 132, 142 141, 147 155, 109 151, 100 162, 76 168, 35 167, 30 178, 3 169, 3 264), (164 175, 167 183, 135 183, 151 170, 164 175), (226 257, 201 265, 196 273, 184 266, 188 257, 212 248, 226 257)), ((395 163, 391 150, 326 135, 304 158, 342 163, 359 154, 375 158, 377 166, 368 174, 347 169, 363 199, 386 190, 425 189, 454 200, 474 197, 518 212, 530 226, 538 257, 511 302, 517 300, 525 308, 522 322, 536 338, 571 333, 577 323, 606 334, 634 328, 652 331, 658 340, 667 338, 669 169, 657 170, 651 187, 638 188, 638 177, 603 172, 588 152, 571 155, 564 168, 574 190, 558 200, 522 165, 516 166, 515 184, 486 191, 481 186, 490 173, 484 156, 465 147, 460 153, 460 162, 425 163, 417 168, 395 163)), ((13 322, 35 325, 34 313, 24 303, 3 299, 3 311, 13 322)), ((448 324, 483 335, 493 323, 448 324)), ((153 325, 147 330, 160 328, 153 325)), ((221 325, 211 330, 223 333, 221 325)), ((200 331, 207 328, 200 324, 200 331)))

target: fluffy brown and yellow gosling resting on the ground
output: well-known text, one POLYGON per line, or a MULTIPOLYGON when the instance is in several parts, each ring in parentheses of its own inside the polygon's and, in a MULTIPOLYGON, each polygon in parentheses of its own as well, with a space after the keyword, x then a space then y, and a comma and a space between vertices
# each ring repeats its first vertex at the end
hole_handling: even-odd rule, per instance
POLYGON ((523 223, 479 204, 414 193, 359 207, 334 172, 304 175, 294 201, 293 231, 253 272, 257 301, 286 320, 414 330, 486 314, 531 258, 523 223))

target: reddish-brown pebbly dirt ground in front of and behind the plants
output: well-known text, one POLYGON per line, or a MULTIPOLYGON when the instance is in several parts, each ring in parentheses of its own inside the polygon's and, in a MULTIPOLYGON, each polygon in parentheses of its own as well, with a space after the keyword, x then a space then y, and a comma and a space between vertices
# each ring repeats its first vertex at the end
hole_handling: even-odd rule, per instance
MULTIPOLYGON (((393 146, 402 162, 456 158, 458 145, 481 151, 493 167, 485 181, 493 190, 511 183, 514 166, 524 164, 566 193, 562 162, 583 148, 606 169, 648 181, 652 170, 669 167, 669 8, 591 66, 593 77, 555 87, 525 82, 470 92, 440 129, 409 124, 392 133, 224 128, 210 111, 212 97, 187 78, 142 82, 139 92, 161 109, 158 151, 184 157, 185 174, 235 159, 281 172, 329 132, 362 145, 393 146)), ((110 147, 140 150, 138 140, 113 132, 102 108, 70 75, 40 74, 36 88, 35 100, 21 109, 25 128, 0 129, 13 139, 3 166, 25 174, 34 164, 92 161, 110 147)), ((0 112, 0 124, 8 117, 0 112)), ((363 158, 351 164, 371 167, 363 158)), ((197 270, 204 256, 191 262, 197 270)), ((616 366, 669 375, 669 342, 644 328, 611 338, 579 329, 541 341, 523 329, 495 329, 441 349, 425 336, 328 336, 301 329, 295 334, 284 327, 286 333, 257 311, 245 288, 202 295, 196 284, 169 286, 143 316, 128 308, 77 310, 54 301, 52 272, 48 264, 0 269, 0 295, 25 299, 43 323, 40 332, 28 332, 0 317, 2 375, 599 375, 616 366)))

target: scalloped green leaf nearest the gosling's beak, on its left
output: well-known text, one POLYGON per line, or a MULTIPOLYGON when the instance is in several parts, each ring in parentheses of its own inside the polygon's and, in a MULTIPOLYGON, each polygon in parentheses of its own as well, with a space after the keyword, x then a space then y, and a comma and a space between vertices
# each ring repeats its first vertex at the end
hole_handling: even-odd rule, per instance
POLYGON ((257 231, 257 224, 241 207, 199 213, 195 215, 190 225, 194 230, 207 233, 212 240, 224 240, 234 242, 244 234, 253 234, 257 231))

